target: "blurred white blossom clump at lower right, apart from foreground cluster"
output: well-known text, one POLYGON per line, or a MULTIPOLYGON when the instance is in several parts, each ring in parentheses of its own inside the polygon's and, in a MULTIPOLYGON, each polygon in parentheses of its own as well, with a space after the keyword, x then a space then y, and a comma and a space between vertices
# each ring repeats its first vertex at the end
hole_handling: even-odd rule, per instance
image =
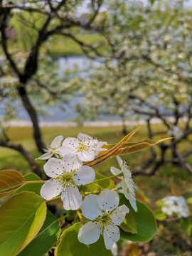
POLYGON ((188 206, 183 196, 167 196, 162 199, 164 206, 161 207, 161 211, 171 216, 174 213, 178 215, 178 218, 187 218, 190 215, 188 206))

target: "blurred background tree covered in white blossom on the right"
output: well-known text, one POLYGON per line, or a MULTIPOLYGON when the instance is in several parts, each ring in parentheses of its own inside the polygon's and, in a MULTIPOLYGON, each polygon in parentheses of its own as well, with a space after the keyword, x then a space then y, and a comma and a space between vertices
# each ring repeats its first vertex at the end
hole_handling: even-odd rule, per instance
POLYGON ((121 117, 123 124, 125 118, 142 117, 149 138, 174 137, 170 144, 159 146, 159 156, 151 148, 151 157, 134 174, 152 175, 167 161, 192 172, 185 160, 191 154, 188 136, 192 132, 191 11, 123 2, 108 12, 108 21, 103 33, 111 52, 103 59, 104 66, 91 69, 90 80, 83 82, 80 90, 86 103, 78 105, 78 112, 85 118, 112 114, 121 117), (163 122, 164 131, 153 132, 153 118, 163 122), (179 124, 181 120, 185 122, 179 124), (182 143, 188 146, 180 152, 182 143))

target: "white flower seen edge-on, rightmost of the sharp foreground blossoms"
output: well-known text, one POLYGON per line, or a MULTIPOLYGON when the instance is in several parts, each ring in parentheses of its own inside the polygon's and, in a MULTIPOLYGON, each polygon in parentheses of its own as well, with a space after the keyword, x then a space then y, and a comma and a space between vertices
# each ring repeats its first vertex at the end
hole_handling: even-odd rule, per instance
POLYGON ((113 175, 122 174, 122 176, 118 176, 118 178, 122 180, 121 186, 124 192, 124 196, 129 200, 132 208, 134 208, 134 210, 137 211, 137 205, 136 205, 136 199, 135 199, 135 190, 137 186, 135 186, 134 184, 131 170, 129 168, 129 165, 127 164, 127 161, 122 161, 122 159, 119 156, 117 156, 117 161, 118 161, 120 170, 115 167, 111 167, 111 172, 113 175))

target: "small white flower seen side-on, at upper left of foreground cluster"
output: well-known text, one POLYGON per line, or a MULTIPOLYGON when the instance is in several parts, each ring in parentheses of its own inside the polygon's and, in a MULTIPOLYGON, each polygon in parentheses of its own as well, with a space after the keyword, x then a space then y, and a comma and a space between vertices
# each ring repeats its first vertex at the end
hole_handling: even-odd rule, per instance
POLYGON ((46 153, 43 154, 42 156, 39 156, 36 160, 50 159, 50 157, 53 156, 53 154, 59 154, 58 149, 60 148, 62 141, 63 141, 63 135, 55 137, 55 139, 53 139, 53 142, 51 142, 50 146, 47 146, 47 149, 44 149, 46 153))

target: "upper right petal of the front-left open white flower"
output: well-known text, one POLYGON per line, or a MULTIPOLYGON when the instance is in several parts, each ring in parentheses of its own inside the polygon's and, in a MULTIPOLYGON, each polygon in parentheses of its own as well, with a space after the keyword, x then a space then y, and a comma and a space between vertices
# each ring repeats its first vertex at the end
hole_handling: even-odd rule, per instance
POLYGON ((80 161, 75 154, 67 154, 63 156, 62 166, 65 171, 70 172, 80 168, 80 166, 82 166, 82 161, 80 161))

